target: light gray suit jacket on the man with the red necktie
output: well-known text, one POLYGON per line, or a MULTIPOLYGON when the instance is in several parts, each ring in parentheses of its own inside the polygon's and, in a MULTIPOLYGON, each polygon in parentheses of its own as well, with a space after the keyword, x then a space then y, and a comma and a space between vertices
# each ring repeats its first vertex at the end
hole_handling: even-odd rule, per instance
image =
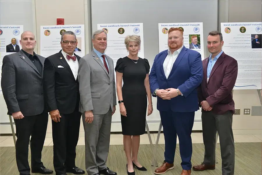
POLYGON ((92 50, 79 61, 78 81, 80 92, 79 111, 93 111, 94 115, 106 114, 116 105, 116 84, 113 60, 105 55, 109 74, 104 63, 92 50))

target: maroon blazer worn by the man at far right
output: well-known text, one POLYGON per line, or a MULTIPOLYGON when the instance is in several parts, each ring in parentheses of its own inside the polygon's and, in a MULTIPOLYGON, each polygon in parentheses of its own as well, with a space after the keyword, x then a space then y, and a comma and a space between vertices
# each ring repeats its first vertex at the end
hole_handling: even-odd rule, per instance
POLYGON ((201 101, 206 100, 215 114, 224 114, 227 111, 235 113, 232 90, 238 75, 238 62, 223 52, 215 62, 207 81, 208 62, 209 57, 202 61, 204 77, 198 88, 199 107, 201 101))

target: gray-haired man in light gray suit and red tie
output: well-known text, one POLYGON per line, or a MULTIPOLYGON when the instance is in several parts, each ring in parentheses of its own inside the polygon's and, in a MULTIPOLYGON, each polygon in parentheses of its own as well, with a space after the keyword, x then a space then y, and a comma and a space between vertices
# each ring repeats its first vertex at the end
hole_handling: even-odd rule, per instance
POLYGON ((79 61, 79 111, 85 130, 86 171, 88 175, 116 175, 106 166, 112 115, 116 111, 116 85, 113 60, 105 55, 107 34, 92 35, 94 49, 79 61))

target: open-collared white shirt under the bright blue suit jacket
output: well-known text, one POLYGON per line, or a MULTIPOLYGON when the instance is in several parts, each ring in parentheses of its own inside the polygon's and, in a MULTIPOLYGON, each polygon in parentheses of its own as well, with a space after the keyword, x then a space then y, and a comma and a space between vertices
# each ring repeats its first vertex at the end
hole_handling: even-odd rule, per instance
POLYGON ((176 50, 173 54, 171 54, 170 49, 167 50, 167 57, 164 60, 163 63, 163 68, 164 68, 164 73, 165 76, 168 78, 171 69, 173 67, 174 62, 176 61, 176 58, 178 57, 178 54, 181 52, 183 46, 181 48, 179 48, 178 50, 176 50))

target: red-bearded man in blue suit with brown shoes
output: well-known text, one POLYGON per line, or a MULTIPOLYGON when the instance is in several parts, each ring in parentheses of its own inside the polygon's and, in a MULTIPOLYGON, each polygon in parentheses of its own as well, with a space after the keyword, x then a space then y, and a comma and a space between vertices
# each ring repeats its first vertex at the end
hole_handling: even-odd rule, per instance
POLYGON ((155 174, 174 168, 176 136, 179 138, 181 175, 191 175, 191 132, 199 109, 197 87, 203 78, 201 55, 183 45, 183 31, 170 28, 168 50, 157 54, 149 75, 150 89, 157 96, 157 110, 163 125, 165 160, 155 174))

